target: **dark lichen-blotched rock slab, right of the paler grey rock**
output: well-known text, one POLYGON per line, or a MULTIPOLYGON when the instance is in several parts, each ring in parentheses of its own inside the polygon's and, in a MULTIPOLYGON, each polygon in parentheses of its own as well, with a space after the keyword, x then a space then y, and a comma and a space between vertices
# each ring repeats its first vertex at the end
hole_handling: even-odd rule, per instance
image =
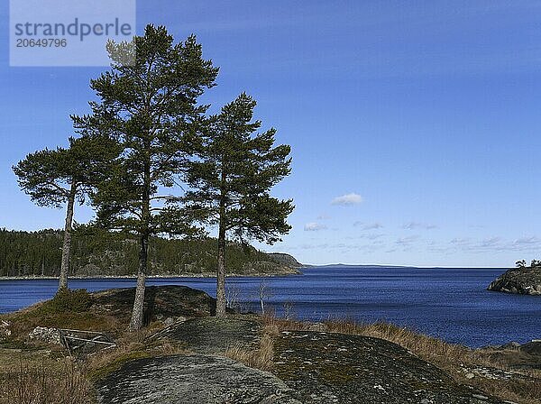
POLYGON ((359 335, 284 332, 272 372, 305 404, 503 403, 398 344, 359 335))

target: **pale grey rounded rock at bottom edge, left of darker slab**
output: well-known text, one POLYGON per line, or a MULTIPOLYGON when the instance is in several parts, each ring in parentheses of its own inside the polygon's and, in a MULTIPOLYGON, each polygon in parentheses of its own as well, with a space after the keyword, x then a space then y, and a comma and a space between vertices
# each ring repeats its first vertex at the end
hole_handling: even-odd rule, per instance
POLYGON ((126 363, 96 387, 100 404, 300 404, 269 372, 199 354, 126 363))

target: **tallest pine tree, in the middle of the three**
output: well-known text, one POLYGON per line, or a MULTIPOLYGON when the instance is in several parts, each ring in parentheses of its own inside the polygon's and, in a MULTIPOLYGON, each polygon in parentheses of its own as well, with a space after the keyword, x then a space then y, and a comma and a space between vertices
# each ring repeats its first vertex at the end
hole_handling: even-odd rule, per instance
POLYGON ((206 112, 206 106, 197 106, 197 97, 214 86, 218 69, 202 58, 194 36, 173 43, 161 26, 147 25, 132 45, 108 42, 112 69, 90 82, 99 102, 90 103, 92 115, 73 119, 82 133, 108 133, 122 150, 93 202, 98 224, 139 239, 130 322, 130 329, 137 330, 142 326, 149 238, 188 229, 185 212, 174 203, 177 198, 161 191, 177 183, 186 139, 206 112), (124 64, 133 58, 133 64, 124 64))

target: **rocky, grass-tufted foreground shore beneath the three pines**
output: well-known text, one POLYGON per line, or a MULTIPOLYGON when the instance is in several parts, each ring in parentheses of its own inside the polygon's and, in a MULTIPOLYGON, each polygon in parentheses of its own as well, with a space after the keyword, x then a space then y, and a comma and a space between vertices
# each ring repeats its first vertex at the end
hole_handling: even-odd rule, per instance
POLYGON ((49 335, 78 324, 116 342, 114 349, 78 358, 87 363, 82 379, 90 381, 88 389, 95 396, 85 403, 541 403, 535 399, 541 381, 531 375, 536 373, 524 372, 541 364, 536 344, 472 352, 390 325, 374 326, 381 328, 379 338, 348 330, 345 323, 341 327, 233 312, 216 318, 214 298, 181 286, 149 287, 148 326, 142 334, 130 335, 124 330, 133 293, 133 288, 92 293, 84 312, 57 315, 45 302, 0 316, 9 331, 0 335, 0 381, 7 381, 5 390, 0 386, 0 404, 11 402, 10 391, 19 388, 9 384, 17 381, 13 370, 3 376, 2 363, 20 363, 32 353, 41 369, 58 366, 58 356, 66 353, 49 335), (49 328, 36 331, 30 325, 49 328), (384 330, 395 335, 385 336, 384 330), (46 348, 50 362, 43 362, 36 346, 46 348), (474 358, 484 359, 472 362, 474 358), (513 361, 509 369, 490 364, 513 361), (503 394, 506 389, 510 392, 503 394))

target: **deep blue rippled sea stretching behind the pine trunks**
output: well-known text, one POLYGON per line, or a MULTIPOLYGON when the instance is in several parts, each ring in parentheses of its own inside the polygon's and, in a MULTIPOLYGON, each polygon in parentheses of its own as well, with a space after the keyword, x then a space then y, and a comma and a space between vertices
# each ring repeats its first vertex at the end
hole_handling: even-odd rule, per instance
MULTIPOLYGON (((267 307, 298 318, 385 320, 450 343, 480 347, 541 338, 541 297, 486 290, 504 269, 326 266, 302 275, 228 278, 244 309, 259 310, 266 285, 267 307)), ((215 296, 214 278, 149 279, 149 285, 186 285, 215 296)), ((132 279, 70 280, 71 289, 128 288, 132 279)), ((56 280, 0 280, 0 313, 51 298, 56 280)))

